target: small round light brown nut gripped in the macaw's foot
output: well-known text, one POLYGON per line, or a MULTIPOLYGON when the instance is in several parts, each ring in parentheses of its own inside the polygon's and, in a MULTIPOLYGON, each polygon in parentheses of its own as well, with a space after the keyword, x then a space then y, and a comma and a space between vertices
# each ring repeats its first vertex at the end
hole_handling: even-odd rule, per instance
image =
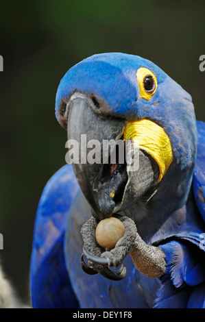
POLYGON ((103 219, 95 230, 95 238, 101 247, 111 248, 125 234, 123 223, 114 217, 103 219))

